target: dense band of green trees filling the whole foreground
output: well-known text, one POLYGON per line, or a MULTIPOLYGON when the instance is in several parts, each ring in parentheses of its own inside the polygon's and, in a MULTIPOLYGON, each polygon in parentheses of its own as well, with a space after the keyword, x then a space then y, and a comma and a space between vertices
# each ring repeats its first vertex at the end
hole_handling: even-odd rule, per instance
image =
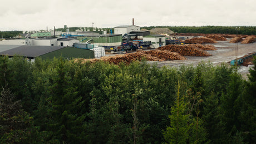
POLYGON ((1 57, 0 143, 255 143, 255 69, 1 57))

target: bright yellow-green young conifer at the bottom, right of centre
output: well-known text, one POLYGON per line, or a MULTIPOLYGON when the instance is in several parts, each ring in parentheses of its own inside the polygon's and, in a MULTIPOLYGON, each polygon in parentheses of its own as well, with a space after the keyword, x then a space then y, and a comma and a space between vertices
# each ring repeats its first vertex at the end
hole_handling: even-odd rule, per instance
POLYGON ((165 141, 168 143, 203 143, 206 140, 206 132, 203 121, 199 118, 199 110, 195 111, 196 117, 192 116, 190 111, 194 104, 199 105, 200 100, 195 103, 189 98, 189 101, 185 102, 185 96, 180 96, 182 85, 184 84, 178 82, 175 105, 171 107, 169 116, 170 127, 163 132, 165 141))

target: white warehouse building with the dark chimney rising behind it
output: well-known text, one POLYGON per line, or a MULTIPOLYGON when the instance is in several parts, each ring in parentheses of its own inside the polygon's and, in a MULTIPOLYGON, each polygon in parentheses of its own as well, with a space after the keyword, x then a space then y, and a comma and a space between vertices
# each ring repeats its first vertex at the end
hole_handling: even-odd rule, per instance
POLYGON ((115 34, 122 34, 122 36, 124 36, 124 34, 128 34, 132 31, 140 31, 140 27, 139 26, 135 26, 135 25, 130 25, 130 26, 118 26, 118 27, 114 27, 114 33, 115 34))

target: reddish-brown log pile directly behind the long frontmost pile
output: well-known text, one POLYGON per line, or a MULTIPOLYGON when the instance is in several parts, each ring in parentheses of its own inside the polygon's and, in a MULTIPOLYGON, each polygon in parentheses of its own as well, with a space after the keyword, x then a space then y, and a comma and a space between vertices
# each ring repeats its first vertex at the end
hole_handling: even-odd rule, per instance
POLYGON ((177 52, 181 56, 199 56, 199 57, 207 57, 211 56, 210 53, 204 51, 203 49, 199 49, 196 46, 190 46, 189 44, 185 45, 178 45, 178 44, 169 44, 168 46, 163 46, 157 48, 161 51, 171 51, 171 52, 177 52))

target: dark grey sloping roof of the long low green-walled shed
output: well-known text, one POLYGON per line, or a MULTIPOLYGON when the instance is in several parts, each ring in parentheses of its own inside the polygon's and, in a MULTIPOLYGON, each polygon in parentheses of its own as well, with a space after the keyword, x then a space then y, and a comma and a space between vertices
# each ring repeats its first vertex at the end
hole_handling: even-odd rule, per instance
POLYGON ((7 51, 0 52, 0 55, 14 56, 18 54, 24 57, 38 57, 46 53, 50 53, 61 49, 59 46, 19 46, 9 49, 7 51))

